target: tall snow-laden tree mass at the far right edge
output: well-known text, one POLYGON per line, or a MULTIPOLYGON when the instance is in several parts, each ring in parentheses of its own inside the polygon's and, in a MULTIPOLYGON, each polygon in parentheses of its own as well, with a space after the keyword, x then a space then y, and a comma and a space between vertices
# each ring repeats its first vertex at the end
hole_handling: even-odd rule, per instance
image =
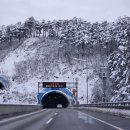
POLYGON ((130 18, 124 17, 117 20, 115 41, 118 50, 109 57, 111 78, 115 82, 115 96, 112 101, 130 100, 130 18))

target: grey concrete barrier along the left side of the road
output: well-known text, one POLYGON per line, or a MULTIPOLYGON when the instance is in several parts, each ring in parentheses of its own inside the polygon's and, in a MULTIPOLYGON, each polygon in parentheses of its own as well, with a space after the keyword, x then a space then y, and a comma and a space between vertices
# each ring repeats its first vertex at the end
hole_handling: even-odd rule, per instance
POLYGON ((0 115, 41 110, 41 105, 0 104, 0 115))

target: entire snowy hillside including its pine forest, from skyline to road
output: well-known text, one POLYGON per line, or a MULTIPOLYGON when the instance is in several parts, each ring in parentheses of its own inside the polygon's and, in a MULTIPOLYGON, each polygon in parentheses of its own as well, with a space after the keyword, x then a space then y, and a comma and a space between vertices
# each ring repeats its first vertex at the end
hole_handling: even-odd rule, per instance
POLYGON ((93 102, 130 100, 130 17, 119 17, 112 23, 91 23, 76 17, 38 21, 30 17, 0 32, 0 74, 11 84, 5 95, 15 90, 16 97, 16 91, 34 93, 35 97, 38 81, 78 78, 78 97, 85 103, 88 77, 93 102))

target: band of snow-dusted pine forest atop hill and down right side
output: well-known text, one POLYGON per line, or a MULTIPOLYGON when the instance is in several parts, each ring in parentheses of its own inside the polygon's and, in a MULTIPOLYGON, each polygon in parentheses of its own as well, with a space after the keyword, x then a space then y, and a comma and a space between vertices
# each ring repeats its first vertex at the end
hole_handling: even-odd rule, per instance
POLYGON ((130 17, 101 23, 76 17, 53 21, 38 21, 30 17, 24 23, 0 27, 0 50, 16 48, 17 44, 30 37, 58 41, 58 56, 69 64, 73 58, 90 61, 95 57, 96 60, 99 54, 99 66, 108 67, 113 81, 111 101, 130 100, 130 17))

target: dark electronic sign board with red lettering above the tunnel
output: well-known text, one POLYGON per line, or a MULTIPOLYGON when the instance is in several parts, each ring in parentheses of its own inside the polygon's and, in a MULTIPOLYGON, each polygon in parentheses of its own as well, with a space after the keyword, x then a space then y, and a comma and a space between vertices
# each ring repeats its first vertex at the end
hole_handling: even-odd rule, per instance
POLYGON ((66 88, 66 82, 41 82, 43 88, 66 88))

